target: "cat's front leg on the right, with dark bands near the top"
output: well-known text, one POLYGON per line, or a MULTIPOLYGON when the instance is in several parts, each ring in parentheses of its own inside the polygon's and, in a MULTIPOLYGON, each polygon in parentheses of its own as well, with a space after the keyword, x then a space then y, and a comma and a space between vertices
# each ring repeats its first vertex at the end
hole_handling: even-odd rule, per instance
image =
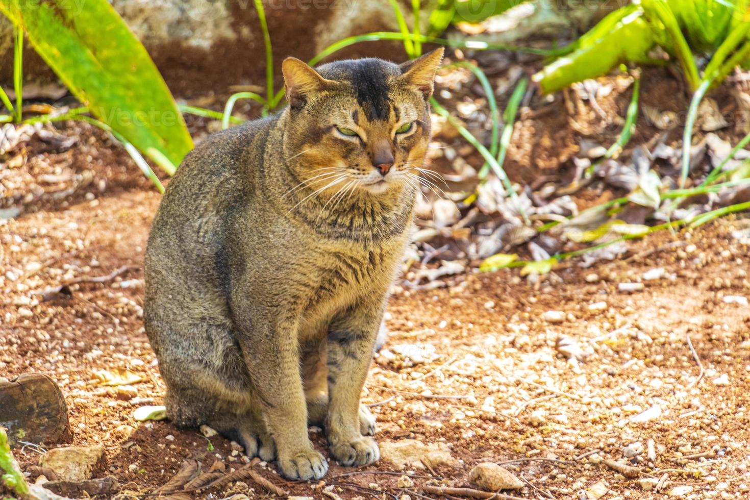
POLYGON ((380 459, 374 439, 362 436, 359 396, 368 375, 383 317, 384 298, 357 304, 332 322, 326 350, 329 409, 326 433, 332 455, 344 466, 380 459))

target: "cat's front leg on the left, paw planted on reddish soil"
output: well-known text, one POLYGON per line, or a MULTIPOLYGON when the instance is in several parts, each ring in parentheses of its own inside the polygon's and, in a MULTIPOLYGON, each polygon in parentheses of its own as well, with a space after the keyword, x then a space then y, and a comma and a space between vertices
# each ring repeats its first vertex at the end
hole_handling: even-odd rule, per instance
POLYGON ((308 412, 299 373, 297 319, 289 307, 269 308, 248 301, 233 303, 237 340, 251 385, 276 443, 281 473, 297 480, 320 479, 326 459, 308 438, 308 412))

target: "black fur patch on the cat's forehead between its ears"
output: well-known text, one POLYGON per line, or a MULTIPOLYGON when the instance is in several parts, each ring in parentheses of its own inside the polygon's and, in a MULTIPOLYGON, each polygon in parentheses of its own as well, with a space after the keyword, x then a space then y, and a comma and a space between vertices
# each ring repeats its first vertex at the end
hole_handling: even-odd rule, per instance
POLYGON ((369 121, 389 118, 389 78, 401 75, 396 64, 377 58, 350 59, 324 64, 319 72, 324 78, 349 82, 369 121))

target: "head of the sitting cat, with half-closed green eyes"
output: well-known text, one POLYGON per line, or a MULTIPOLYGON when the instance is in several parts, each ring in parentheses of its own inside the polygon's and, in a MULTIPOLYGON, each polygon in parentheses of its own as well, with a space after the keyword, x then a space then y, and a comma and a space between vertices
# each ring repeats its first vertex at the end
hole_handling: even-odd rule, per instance
POLYGON ((430 140, 433 80, 443 48, 394 64, 377 58, 314 70, 287 58, 284 156, 321 192, 380 193, 416 186, 430 140))

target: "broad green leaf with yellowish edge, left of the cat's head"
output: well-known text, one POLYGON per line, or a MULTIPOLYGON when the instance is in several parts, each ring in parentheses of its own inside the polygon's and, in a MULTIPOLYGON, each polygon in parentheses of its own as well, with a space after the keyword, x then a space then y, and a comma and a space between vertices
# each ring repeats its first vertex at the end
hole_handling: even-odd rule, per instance
POLYGON ((101 121, 174 173, 193 148, 169 88, 107 0, 0 0, 31 45, 101 121))

